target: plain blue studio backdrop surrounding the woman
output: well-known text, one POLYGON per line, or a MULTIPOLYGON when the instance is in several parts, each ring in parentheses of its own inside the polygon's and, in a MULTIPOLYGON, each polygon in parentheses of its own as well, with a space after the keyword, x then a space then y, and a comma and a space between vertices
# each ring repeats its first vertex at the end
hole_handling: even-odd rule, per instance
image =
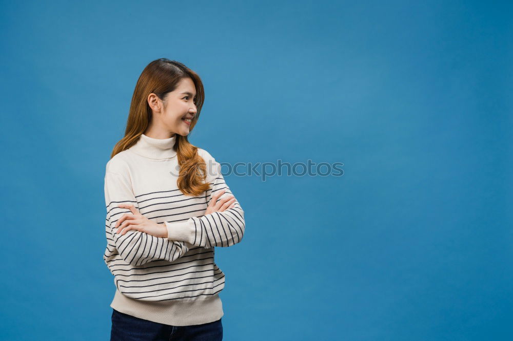
POLYGON ((225 340, 510 340, 512 6, 2 2, 2 337, 100 340, 104 172, 152 60, 202 77, 226 180, 225 340))

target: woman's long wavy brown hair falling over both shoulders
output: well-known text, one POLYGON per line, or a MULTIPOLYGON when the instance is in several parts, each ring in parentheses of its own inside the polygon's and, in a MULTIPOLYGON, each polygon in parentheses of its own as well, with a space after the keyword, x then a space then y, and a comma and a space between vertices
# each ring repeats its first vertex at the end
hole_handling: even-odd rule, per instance
MULTIPOLYGON (((194 115, 189 131, 192 132, 194 125, 200 117, 201 107, 205 100, 203 82, 200 76, 187 68, 179 61, 160 58, 150 62, 144 68, 141 76, 135 84, 130 111, 128 113, 125 137, 114 146, 111 158, 117 153, 127 150, 134 145, 139 137, 146 131, 151 121, 151 108, 148 104, 148 96, 154 93, 161 100, 165 100, 167 93, 174 91, 177 84, 183 78, 190 78, 196 88, 196 115, 194 115)), ((165 104, 165 101, 164 101, 165 104)), ((187 136, 175 134, 176 151, 180 173, 176 181, 178 188, 184 195, 199 196, 210 188, 206 180, 205 160, 198 155, 198 147, 188 141, 187 136), (201 171, 201 172, 198 172, 201 171)))

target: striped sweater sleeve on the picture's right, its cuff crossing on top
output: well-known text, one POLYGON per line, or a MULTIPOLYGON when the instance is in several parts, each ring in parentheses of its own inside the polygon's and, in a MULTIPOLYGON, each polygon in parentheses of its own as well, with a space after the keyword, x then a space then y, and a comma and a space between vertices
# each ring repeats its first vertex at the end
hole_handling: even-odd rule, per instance
MULTIPOLYGON (((207 190, 209 192, 207 193, 208 204, 212 200, 212 195, 222 189, 226 191, 218 201, 230 195, 235 197, 221 174, 221 165, 215 162, 213 158, 212 161, 212 176, 207 177, 207 181, 208 178, 211 178, 209 181, 210 189, 207 190)), ((239 243, 244 236, 246 223, 244 221, 244 211, 236 198, 233 204, 235 205, 233 208, 200 217, 192 217, 185 222, 166 222, 168 239, 184 241, 205 248, 226 247, 239 243)))

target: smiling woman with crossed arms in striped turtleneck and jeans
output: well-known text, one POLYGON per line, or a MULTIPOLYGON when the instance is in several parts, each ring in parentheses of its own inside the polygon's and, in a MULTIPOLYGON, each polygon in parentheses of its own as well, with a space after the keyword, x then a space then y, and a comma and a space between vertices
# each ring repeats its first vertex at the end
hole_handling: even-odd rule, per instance
POLYGON ((220 164, 187 140, 203 101, 200 77, 177 61, 154 60, 137 80, 105 172, 111 340, 223 337, 214 246, 239 243, 245 221, 220 164))

